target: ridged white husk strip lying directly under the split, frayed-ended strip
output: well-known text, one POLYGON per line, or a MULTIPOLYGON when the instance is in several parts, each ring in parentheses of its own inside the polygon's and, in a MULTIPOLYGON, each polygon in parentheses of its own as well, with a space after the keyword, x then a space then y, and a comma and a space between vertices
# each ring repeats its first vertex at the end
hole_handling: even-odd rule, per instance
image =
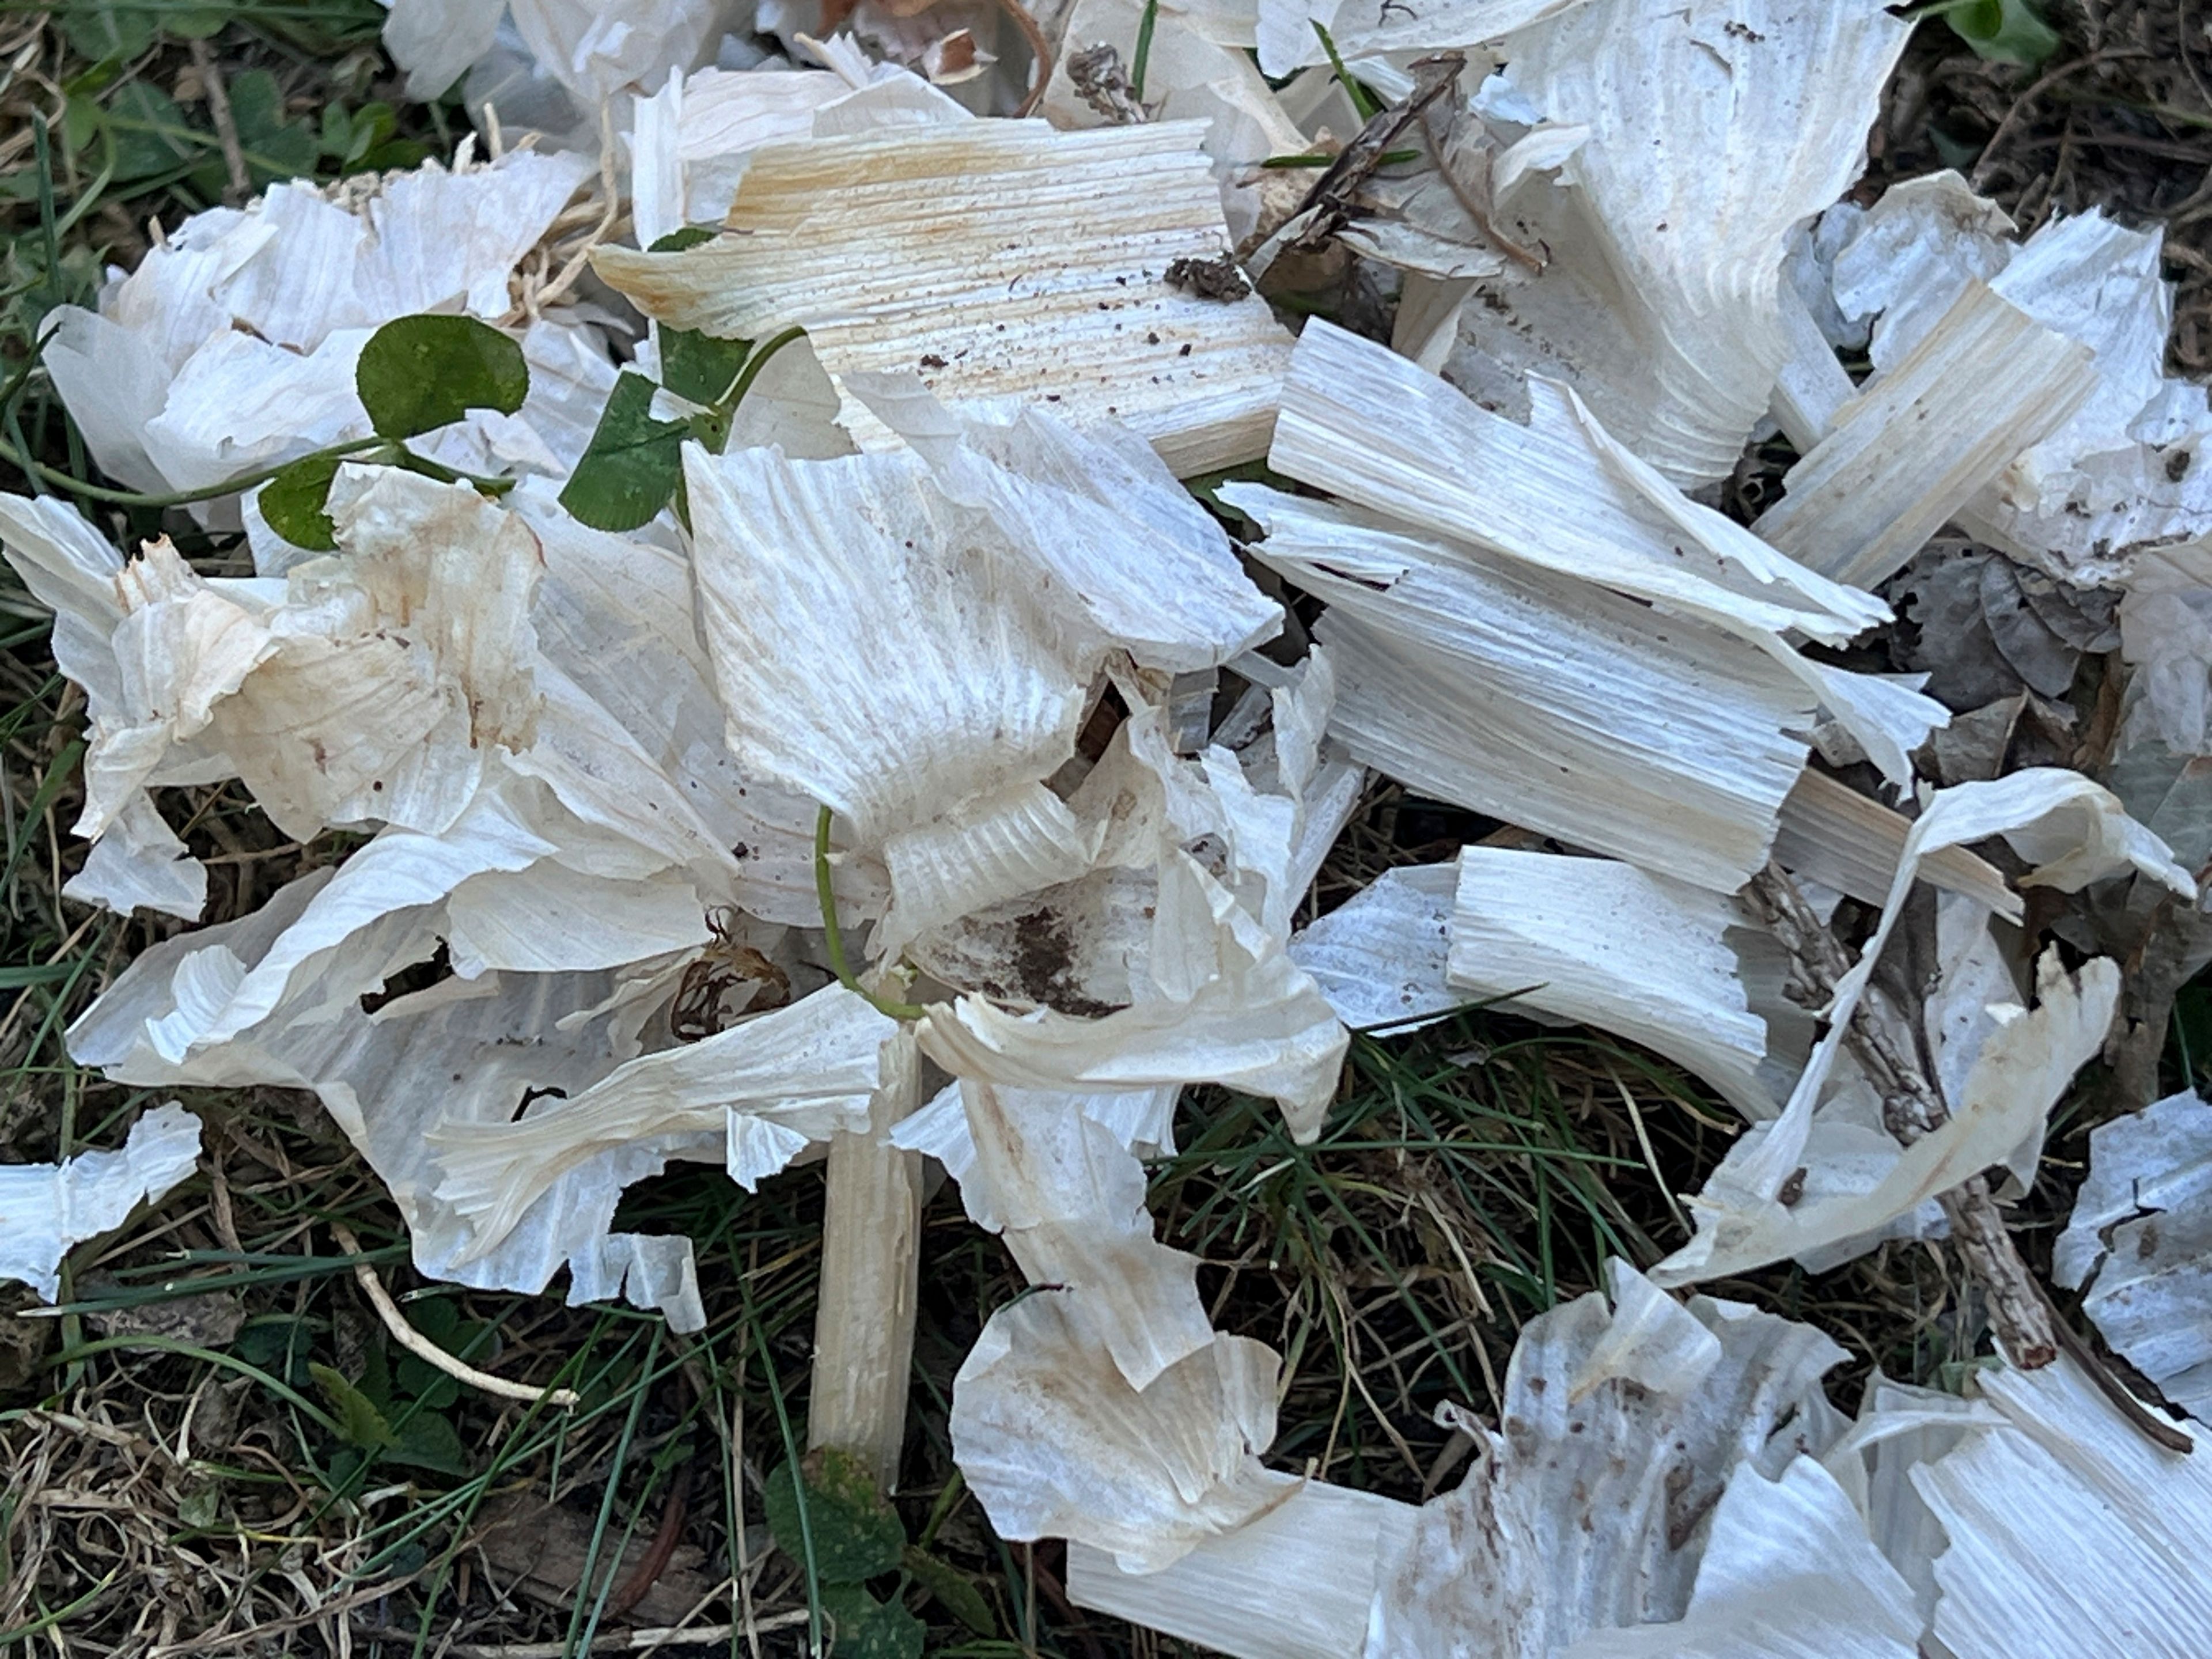
POLYGON ((1225 500, 1267 526, 1270 568, 1329 602, 1332 721, 1367 765, 1723 891, 1765 858, 1803 765, 1790 730, 1814 714, 1765 655, 1374 513, 1256 484, 1225 500))

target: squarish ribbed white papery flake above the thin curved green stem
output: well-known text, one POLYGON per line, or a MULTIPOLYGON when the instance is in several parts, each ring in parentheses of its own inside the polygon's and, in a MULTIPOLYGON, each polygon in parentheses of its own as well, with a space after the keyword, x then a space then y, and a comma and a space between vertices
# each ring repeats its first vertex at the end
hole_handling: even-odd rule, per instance
POLYGON ((757 776, 867 847, 1048 776, 1091 664, 1044 580, 914 453, 794 462, 686 449, 701 622, 757 776))

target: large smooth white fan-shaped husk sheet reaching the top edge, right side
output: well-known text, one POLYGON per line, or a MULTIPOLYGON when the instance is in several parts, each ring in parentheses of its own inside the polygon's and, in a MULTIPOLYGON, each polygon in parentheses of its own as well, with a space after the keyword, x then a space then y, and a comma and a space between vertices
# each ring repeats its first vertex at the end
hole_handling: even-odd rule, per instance
POLYGON ((1666 478, 1725 478, 1790 356, 1790 230, 1865 166, 1907 33, 1874 0, 1584 0, 1515 35, 1522 111, 1588 137, 1513 201, 1546 263, 1467 307, 1447 376, 1513 409, 1566 378, 1666 478))

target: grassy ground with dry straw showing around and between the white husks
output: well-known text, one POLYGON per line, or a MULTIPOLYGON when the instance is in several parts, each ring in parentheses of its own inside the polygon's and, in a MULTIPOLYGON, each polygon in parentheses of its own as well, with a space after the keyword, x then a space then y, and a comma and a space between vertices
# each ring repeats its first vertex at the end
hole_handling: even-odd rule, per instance
MULTIPOLYGON (((1958 166, 2022 232, 2090 206, 2163 223, 2179 281, 2172 365, 2212 372, 2212 55, 2183 44, 2201 38, 2183 33, 2197 9, 2062 9, 2066 44, 2035 71, 1984 62, 1940 22, 1922 24, 1863 197, 1958 166)), ((467 131, 458 106, 400 97, 372 0, 155 11, 195 38, 157 35, 131 7, 0 13, 0 372, 24 361, 46 310, 91 303, 104 265, 133 265, 150 221, 276 177, 407 166, 467 131), (51 119, 44 135, 33 115, 51 119)), ((33 389, 4 438, 86 478, 64 427, 33 389)), ((1745 469, 1732 507, 1754 513, 1785 465, 1774 447, 1745 469)), ((0 465, 0 487, 24 480, 0 465)), ((117 540, 161 529, 157 513, 108 518, 117 540)), ((184 520, 166 529, 199 568, 243 568, 243 553, 188 538, 184 520)), ((33 1161, 113 1144, 113 1126, 144 1104, 75 1068, 62 1031, 179 925, 60 898, 80 858, 66 825, 82 699, 13 577, 0 619, 0 1157, 33 1161)), ((1394 787, 1356 825, 1310 905, 1329 907, 1349 876, 1495 830, 1394 787)), ((210 922, 354 845, 283 843, 239 785, 206 790, 184 836, 215 872, 210 922)), ((2192 1082, 2192 1055, 2212 1060, 2208 987, 2179 1002, 2161 1088, 2192 1082)), ((1688 1230, 1668 1194, 1703 1181, 1734 1119, 1663 1062, 1502 1011, 1356 1040, 1345 1088, 1305 1148, 1272 1108, 1192 1091, 1181 1152, 1152 1170, 1150 1206, 1161 1237, 1208 1263, 1217 1323, 1285 1356, 1272 1462, 1420 1498, 1464 1453, 1433 1409, 1491 1411, 1522 1321, 1590 1290, 1606 1254, 1648 1265, 1679 1245, 1688 1230)), ((2037 1267, 2106 1099, 2093 1068, 2015 1212, 2037 1267)), ((759 1484, 805 1413, 818 1168, 757 1197, 719 1170, 633 1190, 624 1228, 699 1241, 708 1327, 677 1338, 624 1307, 422 1285, 389 1199, 312 1097, 186 1104, 206 1119, 204 1177, 77 1252, 58 1316, 20 1287, 0 1292, 0 1646, 35 1635, 71 1655, 458 1659, 608 1637, 633 1650, 624 1632, 684 1624, 728 1626, 706 1650, 754 1639, 792 1650, 805 1593, 792 1562, 761 1564, 759 1484), (416 1325, 478 1363, 531 1376, 564 1363, 584 1405, 546 1413, 456 1391, 387 1347, 363 1265, 416 1325), (376 1436, 356 1409, 383 1422, 387 1444, 361 1444, 376 1436)), ((953 1371, 987 1314, 1020 1292, 1000 1243, 938 1192, 898 1513, 969 1593, 920 1606, 931 1650, 1159 1652, 1172 1644, 1071 1608, 1060 1546, 995 1540, 953 1475, 953 1371)), ((1887 1245, 1818 1279, 1772 1270, 1759 1301, 1849 1349, 1849 1374, 1832 1378, 1838 1398, 1874 1369, 1940 1380, 1984 1340, 1980 1307, 1927 1245, 1887 1245)))

